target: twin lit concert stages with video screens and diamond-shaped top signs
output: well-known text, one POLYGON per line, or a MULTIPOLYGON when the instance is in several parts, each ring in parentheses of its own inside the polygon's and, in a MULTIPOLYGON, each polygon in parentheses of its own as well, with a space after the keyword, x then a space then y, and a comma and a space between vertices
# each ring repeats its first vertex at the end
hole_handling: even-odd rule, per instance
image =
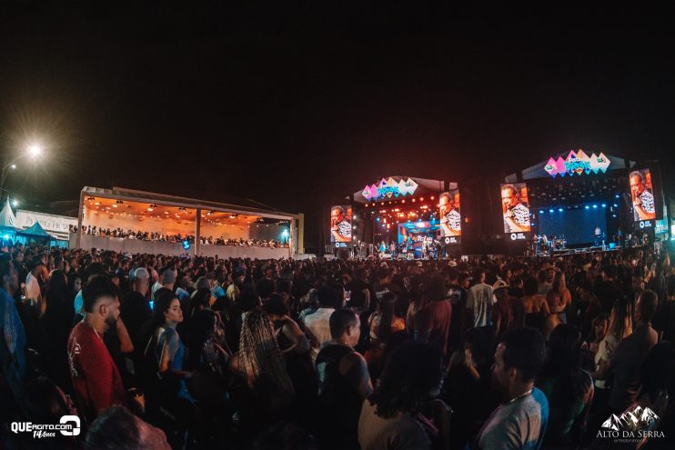
POLYGON ((571 150, 499 179, 381 177, 329 207, 342 257, 563 255, 653 243, 670 220, 656 162, 571 150))

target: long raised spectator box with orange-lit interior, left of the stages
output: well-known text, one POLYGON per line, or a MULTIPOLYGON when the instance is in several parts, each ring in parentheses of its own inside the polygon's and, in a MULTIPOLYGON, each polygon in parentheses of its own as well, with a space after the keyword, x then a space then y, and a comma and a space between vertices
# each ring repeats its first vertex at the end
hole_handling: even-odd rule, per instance
POLYGON ((273 209, 114 187, 80 194, 74 248, 258 259, 303 253, 304 217, 273 209))

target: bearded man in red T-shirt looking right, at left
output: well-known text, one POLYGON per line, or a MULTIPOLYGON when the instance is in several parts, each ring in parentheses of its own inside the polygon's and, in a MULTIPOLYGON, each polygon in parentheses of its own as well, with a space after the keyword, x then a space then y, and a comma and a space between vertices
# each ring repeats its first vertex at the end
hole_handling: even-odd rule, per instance
POLYGON ((68 361, 77 405, 94 420, 110 405, 127 405, 122 376, 103 342, 107 330, 126 335, 126 328, 118 320, 117 287, 105 275, 89 280, 82 297, 85 318, 70 333, 68 361))

